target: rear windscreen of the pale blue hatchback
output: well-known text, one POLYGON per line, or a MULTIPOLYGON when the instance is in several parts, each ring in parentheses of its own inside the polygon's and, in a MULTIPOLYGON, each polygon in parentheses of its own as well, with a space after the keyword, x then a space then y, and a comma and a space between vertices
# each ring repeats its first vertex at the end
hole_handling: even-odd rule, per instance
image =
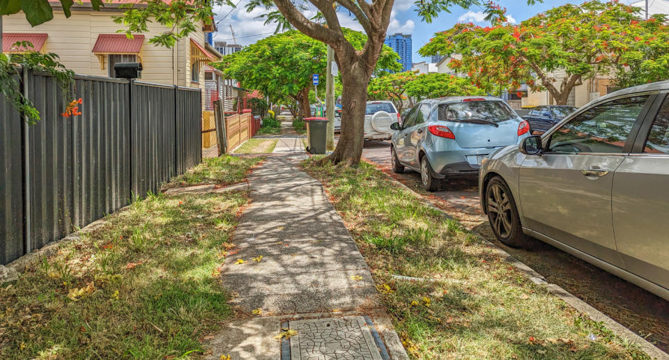
POLYGON ((516 118, 516 113, 500 101, 472 101, 441 104, 438 117, 442 121, 487 120, 501 123, 516 118))

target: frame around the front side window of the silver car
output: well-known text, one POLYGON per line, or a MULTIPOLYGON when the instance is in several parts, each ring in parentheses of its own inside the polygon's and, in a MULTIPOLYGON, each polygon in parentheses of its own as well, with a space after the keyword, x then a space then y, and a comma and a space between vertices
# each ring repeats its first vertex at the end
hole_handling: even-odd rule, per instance
MULTIPOLYGON (((557 124, 557 126, 553 127, 553 131, 551 132, 545 132, 543 135, 541 135, 541 142, 546 149, 546 152, 544 154, 546 155, 615 155, 615 156, 626 156, 626 155, 631 155, 631 152, 633 151, 633 147, 637 146, 638 143, 638 135, 639 135, 639 130, 642 124, 645 124, 647 122, 647 117, 649 114, 649 110, 651 107, 654 107, 655 102, 656 102, 656 97, 658 95, 659 91, 644 91, 640 93, 629 93, 629 94, 624 94, 624 95, 619 95, 616 97, 610 97, 607 99, 603 99, 600 102, 597 102, 596 104, 592 104, 590 107, 582 107, 578 109, 577 111, 574 111, 573 113, 569 114, 566 118, 560 120, 560 123, 557 124), (648 98, 646 99, 645 104, 643 104, 643 107, 641 108, 641 111, 639 111, 639 115, 636 118, 636 121, 632 125, 632 128, 629 132, 629 136, 627 136, 627 139, 625 141, 625 145, 622 148, 622 152, 549 152, 548 148, 551 146, 551 138, 553 137, 553 134, 557 132, 557 130, 560 130, 564 125, 567 125, 567 123, 570 123, 572 120, 578 118, 581 114, 583 114, 585 111, 588 111, 594 107, 599 107, 603 104, 606 104, 608 102, 613 102, 616 100, 624 99, 626 97, 636 97, 636 96, 645 96, 648 95, 648 98)), ((657 109, 659 109, 659 104, 657 105, 657 109)), ((657 111, 653 112, 653 119, 654 115, 657 114, 657 111)), ((650 129, 650 125, 648 125, 648 130, 650 129)), ((645 141, 644 141, 645 144, 645 141)))

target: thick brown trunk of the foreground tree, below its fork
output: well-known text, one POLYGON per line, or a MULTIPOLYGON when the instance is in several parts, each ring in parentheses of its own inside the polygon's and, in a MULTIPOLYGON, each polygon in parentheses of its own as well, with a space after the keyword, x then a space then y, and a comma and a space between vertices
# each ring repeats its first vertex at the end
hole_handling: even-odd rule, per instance
POLYGON ((367 85, 370 75, 360 63, 341 73, 341 134, 337 148, 327 159, 334 164, 344 162, 356 165, 362 156, 364 145, 364 109, 367 102, 367 85))

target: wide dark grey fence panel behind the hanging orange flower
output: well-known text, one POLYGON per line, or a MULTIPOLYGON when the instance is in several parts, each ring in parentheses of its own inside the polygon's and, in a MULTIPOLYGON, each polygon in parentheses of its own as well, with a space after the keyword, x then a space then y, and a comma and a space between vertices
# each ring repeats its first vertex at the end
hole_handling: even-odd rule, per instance
POLYGON ((26 83, 42 120, 29 127, 31 249, 58 240, 130 198, 127 83, 92 77, 75 81, 81 116, 65 118, 63 93, 52 77, 26 83), (115 109, 116 108, 116 109, 115 109))

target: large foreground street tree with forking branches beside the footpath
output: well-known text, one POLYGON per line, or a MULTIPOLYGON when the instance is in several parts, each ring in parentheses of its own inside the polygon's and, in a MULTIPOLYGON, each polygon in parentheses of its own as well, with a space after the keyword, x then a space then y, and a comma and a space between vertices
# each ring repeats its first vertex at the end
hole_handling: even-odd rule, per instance
MULTIPOLYGON (((535 3, 536 0, 528 0, 535 3)), ((328 160, 354 165, 360 162, 364 142, 364 108, 367 101, 367 85, 374 74, 376 63, 383 49, 385 34, 390 23, 394 0, 251 0, 247 10, 263 8, 268 22, 282 26, 294 26, 305 35, 320 40, 334 49, 334 59, 341 72, 343 92, 341 94, 341 136, 337 148, 328 160), (316 16, 307 17, 316 10, 316 16), (367 41, 356 49, 344 36, 338 11, 346 11, 360 24, 367 41)), ((491 18, 499 15, 491 1, 484 0, 427 0, 415 1, 418 16, 426 22, 450 6, 463 8, 480 5, 491 18)))

